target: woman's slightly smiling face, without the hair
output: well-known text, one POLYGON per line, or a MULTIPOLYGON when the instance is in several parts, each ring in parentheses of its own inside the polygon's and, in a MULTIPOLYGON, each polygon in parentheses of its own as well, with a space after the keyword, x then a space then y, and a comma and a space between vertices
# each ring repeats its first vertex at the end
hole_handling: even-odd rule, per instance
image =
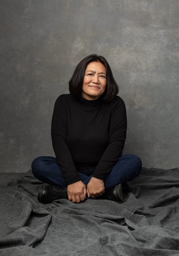
POLYGON ((106 75, 106 68, 101 62, 90 62, 85 70, 82 97, 86 100, 96 100, 99 98, 106 87, 106 75))

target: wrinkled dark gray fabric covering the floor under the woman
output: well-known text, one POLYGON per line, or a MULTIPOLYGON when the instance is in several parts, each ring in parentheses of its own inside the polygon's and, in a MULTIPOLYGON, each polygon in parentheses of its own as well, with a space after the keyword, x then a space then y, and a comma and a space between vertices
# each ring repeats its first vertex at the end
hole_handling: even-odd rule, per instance
POLYGON ((42 204, 32 171, 0 174, 0 255, 179 255, 179 168, 142 168, 123 203, 42 204))

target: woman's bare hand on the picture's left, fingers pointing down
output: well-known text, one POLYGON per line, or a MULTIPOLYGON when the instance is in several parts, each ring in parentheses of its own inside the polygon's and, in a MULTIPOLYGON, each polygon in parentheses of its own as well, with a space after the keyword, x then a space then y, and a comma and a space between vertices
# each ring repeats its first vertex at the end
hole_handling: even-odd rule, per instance
POLYGON ((77 181, 67 186, 68 199, 80 203, 86 197, 86 186, 82 181, 77 181))

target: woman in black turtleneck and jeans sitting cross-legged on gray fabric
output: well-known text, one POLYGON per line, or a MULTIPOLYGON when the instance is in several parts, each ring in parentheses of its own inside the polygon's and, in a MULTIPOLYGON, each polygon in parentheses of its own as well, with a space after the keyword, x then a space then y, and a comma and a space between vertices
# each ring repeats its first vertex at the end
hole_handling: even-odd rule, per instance
POLYGON ((123 155, 126 109, 107 60, 96 54, 82 59, 69 81, 70 94, 54 106, 51 138, 54 157, 40 156, 32 172, 40 181, 38 200, 66 198, 123 201, 121 183, 141 171, 141 160, 123 155))

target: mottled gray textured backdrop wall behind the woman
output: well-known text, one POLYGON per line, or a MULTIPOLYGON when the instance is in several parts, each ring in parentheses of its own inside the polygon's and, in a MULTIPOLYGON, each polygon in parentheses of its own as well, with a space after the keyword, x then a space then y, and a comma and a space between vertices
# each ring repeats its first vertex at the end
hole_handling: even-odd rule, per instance
POLYGON ((92 53, 107 58, 126 103, 123 153, 179 166, 178 13, 178 0, 1 0, 0 171, 54 156, 54 102, 92 53))

